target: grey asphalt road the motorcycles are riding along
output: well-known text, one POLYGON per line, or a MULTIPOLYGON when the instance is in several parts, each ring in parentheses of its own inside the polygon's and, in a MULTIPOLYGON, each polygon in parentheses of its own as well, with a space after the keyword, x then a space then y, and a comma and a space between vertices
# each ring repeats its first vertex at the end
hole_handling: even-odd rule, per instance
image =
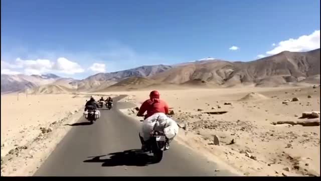
POLYGON ((116 103, 111 110, 100 109, 99 120, 90 124, 81 118, 34 176, 221 176, 217 165, 175 140, 164 152, 163 160, 150 163, 142 153, 138 124, 118 109, 130 108, 116 103))

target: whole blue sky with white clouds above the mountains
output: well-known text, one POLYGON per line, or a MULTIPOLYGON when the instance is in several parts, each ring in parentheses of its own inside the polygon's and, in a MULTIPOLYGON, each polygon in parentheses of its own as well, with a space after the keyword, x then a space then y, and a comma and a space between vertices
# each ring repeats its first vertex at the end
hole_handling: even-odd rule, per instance
POLYGON ((84 78, 307 51, 319 48, 319 7, 316 0, 2 0, 2 73, 84 78))

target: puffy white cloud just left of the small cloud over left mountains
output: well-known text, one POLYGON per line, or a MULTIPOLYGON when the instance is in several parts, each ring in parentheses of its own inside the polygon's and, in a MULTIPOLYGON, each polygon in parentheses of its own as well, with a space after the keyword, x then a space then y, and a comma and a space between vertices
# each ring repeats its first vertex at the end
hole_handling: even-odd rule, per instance
POLYGON ((66 74, 81 73, 85 71, 78 63, 72 62, 63 57, 57 59, 57 63, 54 65, 54 70, 58 70, 66 74))

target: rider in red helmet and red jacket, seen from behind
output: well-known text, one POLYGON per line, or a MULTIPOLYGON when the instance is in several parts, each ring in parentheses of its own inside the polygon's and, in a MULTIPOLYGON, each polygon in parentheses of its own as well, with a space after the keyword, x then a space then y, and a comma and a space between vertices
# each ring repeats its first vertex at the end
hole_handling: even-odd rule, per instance
POLYGON ((137 113, 137 116, 143 116, 143 114, 147 111, 144 119, 148 118, 149 116, 155 113, 169 113, 169 106, 168 104, 159 99, 158 91, 152 91, 149 94, 149 99, 146 100, 141 106, 137 113))

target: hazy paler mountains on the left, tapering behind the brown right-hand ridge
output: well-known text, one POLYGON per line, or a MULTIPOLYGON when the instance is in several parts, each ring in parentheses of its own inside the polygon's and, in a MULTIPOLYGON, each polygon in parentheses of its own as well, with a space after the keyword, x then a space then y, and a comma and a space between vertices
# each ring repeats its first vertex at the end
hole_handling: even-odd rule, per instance
MULTIPOLYGON (((56 86, 60 85, 64 87, 63 89, 68 89, 78 92, 91 92, 98 89, 104 89, 110 85, 113 85, 119 82, 122 79, 128 77, 150 77, 156 73, 166 71, 172 68, 169 65, 150 65, 150 66, 140 66, 137 68, 132 68, 123 71, 111 72, 111 73, 98 73, 92 76, 89 76, 83 80, 75 80, 72 78, 61 78, 54 74, 47 75, 1 75, 1 92, 17 92, 24 91, 28 89, 28 92, 39 92, 38 86, 41 86, 41 93, 54 92, 54 91, 45 91, 46 87, 53 90, 60 90, 56 86), (50 86, 43 86, 50 85, 50 86), (34 91, 31 91, 35 88, 34 91)), ((61 92, 61 91, 59 91, 61 92)))

